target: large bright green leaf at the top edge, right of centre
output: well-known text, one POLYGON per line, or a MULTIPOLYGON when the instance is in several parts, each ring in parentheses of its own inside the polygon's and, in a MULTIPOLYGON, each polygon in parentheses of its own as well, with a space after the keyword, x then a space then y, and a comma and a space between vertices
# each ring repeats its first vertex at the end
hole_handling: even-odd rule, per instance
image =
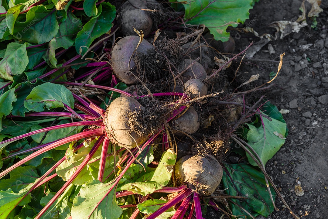
POLYGON ((187 24, 205 25, 214 35, 215 40, 227 41, 229 26, 236 27, 243 23, 253 8, 253 0, 178 0, 185 8, 187 24))

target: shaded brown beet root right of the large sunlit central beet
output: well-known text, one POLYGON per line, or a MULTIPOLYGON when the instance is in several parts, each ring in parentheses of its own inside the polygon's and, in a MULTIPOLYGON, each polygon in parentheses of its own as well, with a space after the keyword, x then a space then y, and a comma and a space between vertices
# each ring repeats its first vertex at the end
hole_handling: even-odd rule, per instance
MULTIPOLYGON (((174 129, 183 131, 187 134, 195 133, 199 129, 199 124, 199 116, 193 107, 189 107, 182 116, 172 122, 174 129)), ((174 131, 174 134, 182 136, 183 133, 180 131, 174 131)))

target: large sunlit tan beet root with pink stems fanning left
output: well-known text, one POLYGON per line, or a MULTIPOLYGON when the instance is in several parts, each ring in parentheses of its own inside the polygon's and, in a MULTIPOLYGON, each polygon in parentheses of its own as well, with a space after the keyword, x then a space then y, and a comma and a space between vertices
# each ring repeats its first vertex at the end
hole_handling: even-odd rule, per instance
POLYGON ((106 110, 105 125, 114 143, 124 148, 135 148, 143 143, 147 136, 139 136, 128 126, 128 113, 144 110, 144 107, 132 97, 118 97, 106 110))

